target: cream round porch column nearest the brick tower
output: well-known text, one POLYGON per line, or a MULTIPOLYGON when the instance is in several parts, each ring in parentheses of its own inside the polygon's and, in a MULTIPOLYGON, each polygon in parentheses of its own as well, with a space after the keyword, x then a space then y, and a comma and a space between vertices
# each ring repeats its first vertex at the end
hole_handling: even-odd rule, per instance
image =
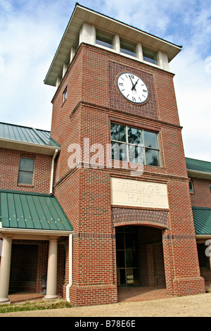
POLYGON ((49 238, 49 263, 47 273, 46 296, 44 299, 56 299, 57 282, 57 246, 58 238, 49 238))

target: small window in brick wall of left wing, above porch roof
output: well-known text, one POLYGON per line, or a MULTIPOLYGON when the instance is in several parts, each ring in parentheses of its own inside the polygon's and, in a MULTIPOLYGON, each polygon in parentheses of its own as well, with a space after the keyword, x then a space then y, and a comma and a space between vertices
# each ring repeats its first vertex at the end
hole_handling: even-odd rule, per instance
POLYGON ((33 184, 34 158, 20 158, 18 184, 33 184))

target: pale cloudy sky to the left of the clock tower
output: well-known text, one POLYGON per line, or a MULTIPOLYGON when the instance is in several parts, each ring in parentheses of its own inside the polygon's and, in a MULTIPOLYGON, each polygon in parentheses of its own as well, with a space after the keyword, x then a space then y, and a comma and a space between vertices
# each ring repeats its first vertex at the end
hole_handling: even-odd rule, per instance
POLYGON ((1 121, 51 129, 55 88, 44 77, 69 20, 56 20, 62 2, 51 1, 49 15, 50 1, 1 2, 1 121))

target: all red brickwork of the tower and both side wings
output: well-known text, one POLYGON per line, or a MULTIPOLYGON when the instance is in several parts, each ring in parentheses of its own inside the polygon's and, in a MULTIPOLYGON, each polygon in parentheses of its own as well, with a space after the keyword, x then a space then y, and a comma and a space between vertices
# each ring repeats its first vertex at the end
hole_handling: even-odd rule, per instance
MULTIPOLYGON (((205 270, 200 275, 192 205, 211 208, 210 182, 194 178, 190 197, 173 77, 165 70, 81 44, 53 97, 51 137, 61 146, 53 193, 74 230, 72 304, 117 302, 116 230, 129 225, 136 226, 139 237, 139 285, 165 285, 170 295, 205 292, 203 277, 209 279, 210 273, 205 270), (146 104, 134 105, 122 98, 115 86, 115 77, 122 71, 143 77, 150 92, 146 104), (63 102, 66 88, 68 97, 63 102), (160 166, 144 165, 143 174, 133 177, 124 163, 120 168, 113 163, 110 168, 86 167, 87 138, 89 146, 103 146, 106 163, 111 122, 157 132, 160 166), (79 144, 82 150, 75 168, 70 168, 70 144, 79 144), (167 185, 169 208, 111 205, 111 177, 167 185)), ((95 154, 90 151, 89 157, 95 154)), ((52 156, 1 149, 0 189, 49 193, 51 162, 52 156), (21 156, 35 159, 33 185, 17 185, 21 156)), ((42 291, 48 247, 48 242, 39 240, 13 242, 11 289, 42 291), (24 266, 26 247, 30 267, 23 275, 18 266, 24 266)), ((68 254, 68 240, 61 238, 57 293, 63 297, 69 283, 68 254)))

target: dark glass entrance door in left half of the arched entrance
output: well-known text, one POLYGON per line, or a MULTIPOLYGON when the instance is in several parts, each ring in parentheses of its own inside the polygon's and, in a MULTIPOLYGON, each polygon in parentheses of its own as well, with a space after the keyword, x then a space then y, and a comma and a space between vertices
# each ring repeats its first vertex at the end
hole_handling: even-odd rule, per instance
POLYGON ((138 251, 138 227, 117 227, 117 286, 139 286, 138 251))

